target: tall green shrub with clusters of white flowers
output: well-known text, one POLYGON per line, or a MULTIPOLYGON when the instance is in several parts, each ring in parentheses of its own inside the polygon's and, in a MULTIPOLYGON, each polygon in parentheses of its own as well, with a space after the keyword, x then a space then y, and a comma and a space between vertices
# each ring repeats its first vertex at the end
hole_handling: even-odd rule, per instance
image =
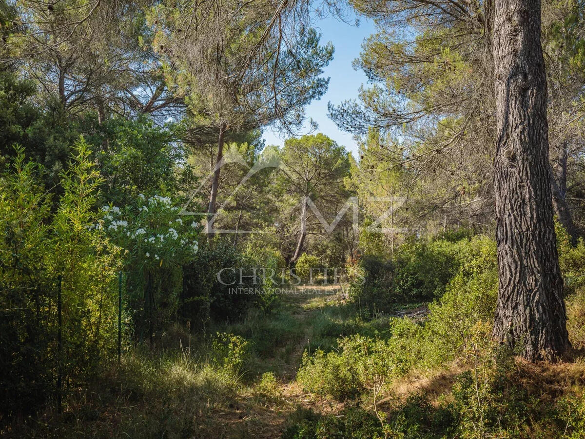
POLYGON ((176 318, 181 266, 194 260, 201 225, 179 215, 180 200, 138 194, 122 207, 105 205, 97 224, 125 250, 126 294, 135 334, 152 337, 176 318))

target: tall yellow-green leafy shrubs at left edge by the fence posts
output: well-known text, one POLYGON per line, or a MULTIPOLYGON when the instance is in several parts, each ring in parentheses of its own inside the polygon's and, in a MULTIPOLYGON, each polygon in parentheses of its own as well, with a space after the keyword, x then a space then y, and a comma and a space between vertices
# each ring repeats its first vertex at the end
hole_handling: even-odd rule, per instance
POLYGON ((94 227, 103 212, 90 148, 80 139, 74 151, 56 211, 22 149, 0 176, 0 415, 40 409, 54 393, 59 286, 64 383, 85 382, 116 351, 120 249, 94 227))

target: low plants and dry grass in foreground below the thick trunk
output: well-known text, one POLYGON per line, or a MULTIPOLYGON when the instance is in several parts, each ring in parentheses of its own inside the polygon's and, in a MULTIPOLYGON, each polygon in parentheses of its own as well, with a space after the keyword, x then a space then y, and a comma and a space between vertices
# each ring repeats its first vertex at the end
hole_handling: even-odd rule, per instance
POLYGON ((553 366, 547 381, 545 371, 515 363, 499 348, 477 348, 473 360, 439 397, 426 388, 374 408, 363 404, 325 416, 296 413, 283 437, 583 437, 583 365, 553 366), (567 384, 575 378, 576 386, 567 384))

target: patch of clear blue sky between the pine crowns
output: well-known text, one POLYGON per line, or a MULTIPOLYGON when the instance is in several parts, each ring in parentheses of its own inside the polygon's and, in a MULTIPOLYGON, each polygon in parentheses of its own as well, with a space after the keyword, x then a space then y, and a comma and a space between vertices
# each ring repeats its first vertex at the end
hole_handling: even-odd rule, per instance
MULTIPOLYGON (((307 118, 310 117, 319 124, 319 132, 328 135, 357 156, 357 145, 353 136, 340 131, 335 122, 327 117, 327 102, 340 104, 346 99, 356 98, 360 85, 366 83, 366 75, 361 70, 353 70, 352 61, 359 56, 362 42, 374 32, 374 26, 363 18, 360 18, 359 26, 352 26, 329 17, 318 20, 315 28, 321 32, 322 43, 328 41, 333 43, 335 54, 329 66, 324 69, 324 76, 331 78, 329 89, 321 100, 313 101, 307 107, 307 118)), ((308 128, 305 132, 307 130, 308 128)), ((266 145, 283 145, 284 143, 278 133, 273 133, 270 129, 266 129, 263 137, 266 145)))

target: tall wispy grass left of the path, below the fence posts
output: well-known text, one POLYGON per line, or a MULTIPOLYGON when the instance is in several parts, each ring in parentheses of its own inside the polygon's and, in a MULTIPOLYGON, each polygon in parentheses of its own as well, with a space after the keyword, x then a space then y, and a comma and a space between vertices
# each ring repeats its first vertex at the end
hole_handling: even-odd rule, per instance
MULTIPOLYGON (((218 351, 218 355, 221 352, 218 351)), ((142 349, 126 353, 119 366, 101 371, 87 392, 71 391, 67 413, 49 411, 4 431, 14 437, 191 437, 211 431, 212 413, 238 403, 243 393, 233 351, 211 361, 197 352, 152 358, 142 349), (225 360, 225 361, 224 361, 225 360)))

